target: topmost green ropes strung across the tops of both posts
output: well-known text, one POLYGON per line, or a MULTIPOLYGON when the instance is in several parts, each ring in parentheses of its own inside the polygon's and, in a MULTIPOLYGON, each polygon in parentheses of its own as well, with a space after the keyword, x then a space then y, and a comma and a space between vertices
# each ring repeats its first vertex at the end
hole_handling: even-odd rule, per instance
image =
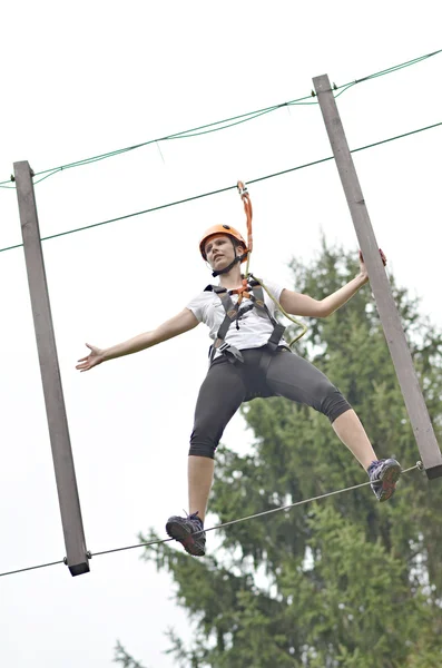
MULTIPOLYGON (((382 77, 384 75, 389 75, 392 72, 395 72, 400 69, 403 69, 405 67, 410 67, 412 65, 416 65, 418 62, 421 62, 422 60, 426 60, 428 58, 431 58, 432 56, 436 56, 438 53, 441 53, 442 49, 439 49, 438 51, 432 51, 431 53, 426 53, 424 56, 419 56, 418 58, 413 58, 412 60, 407 60, 405 62, 402 62, 400 65, 394 65, 392 67, 389 67, 386 69, 380 70, 379 72, 374 72, 372 75, 367 75, 366 77, 362 77, 361 79, 355 79, 354 81, 350 81, 348 84, 343 84, 342 86, 336 86, 334 87, 334 90, 340 90, 338 94, 336 94, 335 97, 338 97, 340 95, 342 95, 343 92, 345 92, 348 88, 351 88, 352 86, 355 86, 356 84, 362 84, 364 81, 369 81, 370 79, 375 79, 377 77, 382 77)), ((167 135, 165 137, 158 137, 157 139, 149 139, 148 141, 143 141, 140 144, 136 144, 134 146, 128 146, 126 148, 119 148, 116 150, 111 150, 108 151, 106 154, 100 154, 97 156, 92 156, 90 158, 84 158, 81 160, 76 160, 75 163, 68 163, 66 165, 61 165, 59 167, 51 167, 50 169, 43 169, 42 171, 38 171, 36 173, 36 176, 41 176, 41 175, 46 175, 43 176, 43 178, 40 178, 38 180, 35 181, 35 185, 38 183, 41 183, 42 180, 45 180, 46 178, 48 178, 49 176, 52 176, 53 174, 57 174, 58 171, 62 171, 66 169, 70 169, 72 167, 80 167, 82 165, 89 165, 91 163, 96 163, 98 160, 105 160, 107 158, 114 157, 114 156, 118 156, 120 154, 124 153, 128 153, 130 150, 135 150, 137 148, 141 148, 143 146, 148 146, 149 144, 154 144, 156 141, 166 141, 166 140, 171 140, 171 139, 184 139, 184 138, 188 138, 188 137, 196 137, 198 135, 206 135, 208 132, 215 132, 218 130, 224 130, 226 128, 233 127, 235 125, 242 124, 242 122, 246 122, 248 120, 253 120, 254 118, 257 118, 264 114, 269 114, 272 111, 276 111, 277 109, 281 109, 283 107, 291 107, 291 106, 296 106, 296 105, 316 105, 316 100, 312 101, 312 95, 315 97, 314 92, 312 91, 311 95, 308 96, 304 96, 294 100, 291 100, 288 102, 281 102, 278 105, 272 105, 271 107, 265 107, 263 109, 257 109, 255 111, 248 111, 247 114, 239 114, 238 116, 233 116, 230 118, 225 118, 223 120, 217 120, 215 122, 209 122, 203 126, 198 126, 195 128, 190 128, 188 130, 181 130, 180 132, 175 132, 173 135, 167 135), (311 101, 305 101, 305 100, 311 100, 311 101), (224 124, 228 124, 228 125, 224 125, 224 124), (217 126, 222 126, 222 127, 217 127, 217 126)), ((4 180, 4 181, 0 181, 0 187, 1 188, 13 188, 14 186, 10 185, 11 180, 4 180)))

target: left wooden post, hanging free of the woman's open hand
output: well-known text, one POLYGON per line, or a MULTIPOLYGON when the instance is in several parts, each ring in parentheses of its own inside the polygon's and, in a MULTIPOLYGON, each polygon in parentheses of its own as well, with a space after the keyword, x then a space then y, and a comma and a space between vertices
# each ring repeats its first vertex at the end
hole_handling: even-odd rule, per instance
POLYGON ((32 174, 28 161, 14 163, 13 169, 33 326, 36 330, 58 500, 65 534, 66 563, 72 576, 79 576, 89 571, 89 553, 86 550, 77 479, 57 357, 32 174))

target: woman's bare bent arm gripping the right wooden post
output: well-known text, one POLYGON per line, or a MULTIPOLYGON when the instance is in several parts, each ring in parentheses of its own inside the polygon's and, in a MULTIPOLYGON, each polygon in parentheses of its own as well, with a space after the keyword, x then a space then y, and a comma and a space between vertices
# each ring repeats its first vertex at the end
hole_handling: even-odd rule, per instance
MULTIPOLYGON (((381 250, 381 257, 384 265, 386 259, 381 250)), ((360 254, 360 273, 352 281, 346 283, 343 287, 340 287, 336 292, 332 293, 324 299, 314 299, 308 295, 302 295, 299 293, 283 289, 281 293, 281 305, 287 313, 292 315, 304 315, 311 317, 327 317, 337 308, 343 306, 348 299, 356 294, 356 292, 369 282, 369 274, 362 255, 360 254)))

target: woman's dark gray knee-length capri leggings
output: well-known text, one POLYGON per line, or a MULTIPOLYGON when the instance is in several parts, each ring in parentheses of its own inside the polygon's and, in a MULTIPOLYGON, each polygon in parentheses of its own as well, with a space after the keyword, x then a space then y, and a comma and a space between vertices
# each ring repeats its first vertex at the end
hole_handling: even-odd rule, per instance
POLYGON ((214 459, 223 432, 240 404, 257 396, 284 396, 312 406, 333 423, 351 409, 318 369, 285 347, 240 351, 244 363, 222 355, 210 365, 195 409, 189 454, 214 459))

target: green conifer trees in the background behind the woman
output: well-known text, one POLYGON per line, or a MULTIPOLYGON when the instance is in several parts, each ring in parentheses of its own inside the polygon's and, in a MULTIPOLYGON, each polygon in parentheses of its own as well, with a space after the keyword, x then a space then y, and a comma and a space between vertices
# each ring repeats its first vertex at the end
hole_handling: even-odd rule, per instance
MULTIPOLYGON (((292 264, 294 286, 316 298, 341 287, 357 263, 323 244, 311 266, 292 264)), ((425 400, 441 435, 441 335, 419 304, 393 292, 425 400)), ((311 321, 299 354, 348 399, 379 456, 419 459, 370 287, 325 320, 311 321)), ((210 511, 219 522, 276 509, 366 480, 327 420, 283 399, 243 414, 253 452, 217 453, 210 511)), ((146 550, 169 571, 195 622, 190 645, 169 631, 177 664, 193 668, 435 668, 442 665, 442 488, 413 471, 379 504, 365 487, 208 534, 191 559, 146 550), (210 554, 216 541, 222 547, 210 554)), ((155 538, 150 536, 148 539, 155 538)))

